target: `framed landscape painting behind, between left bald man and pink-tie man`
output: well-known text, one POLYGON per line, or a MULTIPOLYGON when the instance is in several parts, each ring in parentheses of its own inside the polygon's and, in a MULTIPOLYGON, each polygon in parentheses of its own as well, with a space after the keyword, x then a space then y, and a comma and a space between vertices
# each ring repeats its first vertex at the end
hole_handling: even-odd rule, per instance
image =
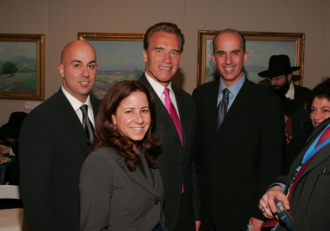
POLYGON ((103 99, 115 83, 136 80, 144 72, 142 58, 144 33, 78 33, 78 39, 92 44, 96 51, 96 82, 92 95, 103 99))

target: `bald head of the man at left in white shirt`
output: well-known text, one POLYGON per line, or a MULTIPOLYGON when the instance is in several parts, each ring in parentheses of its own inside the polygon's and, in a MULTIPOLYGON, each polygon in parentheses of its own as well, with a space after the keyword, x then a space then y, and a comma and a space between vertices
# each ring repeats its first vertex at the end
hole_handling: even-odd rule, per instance
POLYGON ((95 51, 89 43, 69 43, 63 50, 62 63, 58 66, 63 87, 73 97, 85 103, 93 89, 97 67, 95 51))

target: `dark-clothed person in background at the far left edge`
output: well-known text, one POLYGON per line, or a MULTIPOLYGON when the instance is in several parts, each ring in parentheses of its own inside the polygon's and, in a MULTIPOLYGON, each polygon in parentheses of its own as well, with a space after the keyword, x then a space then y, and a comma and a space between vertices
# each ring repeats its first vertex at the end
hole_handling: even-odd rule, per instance
POLYGON ((0 145, 0 154, 15 157, 13 164, 7 170, 8 177, 6 182, 10 185, 19 185, 19 135, 26 116, 27 113, 25 112, 13 112, 9 117, 8 123, 0 128, 0 135, 5 137, 8 144, 8 146, 4 144, 0 145))

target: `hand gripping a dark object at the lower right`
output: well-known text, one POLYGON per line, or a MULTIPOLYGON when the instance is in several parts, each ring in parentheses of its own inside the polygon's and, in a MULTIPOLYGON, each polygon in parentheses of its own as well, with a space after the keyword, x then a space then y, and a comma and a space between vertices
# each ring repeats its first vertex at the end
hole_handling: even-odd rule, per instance
MULTIPOLYGON (((259 209, 265 208, 265 212, 262 213, 268 219, 274 219, 274 214, 276 214, 275 198, 282 201, 286 210, 290 209, 290 204, 284 193, 282 193, 282 188, 279 185, 275 185, 269 189, 265 195, 262 196, 259 201, 259 209)), ((277 216, 276 216, 276 219, 277 216)))

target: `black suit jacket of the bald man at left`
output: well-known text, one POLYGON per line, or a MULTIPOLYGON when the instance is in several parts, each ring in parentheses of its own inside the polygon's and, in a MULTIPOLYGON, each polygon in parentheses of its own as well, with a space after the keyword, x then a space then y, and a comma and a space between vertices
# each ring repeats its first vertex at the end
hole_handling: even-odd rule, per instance
MULTIPOLYGON (((91 97, 94 116, 100 100, 91 97)), ((79 173, 91 151, 62 90, 26 117, 20 135, 20 183, 29 230, 79 230, 79 173)))

